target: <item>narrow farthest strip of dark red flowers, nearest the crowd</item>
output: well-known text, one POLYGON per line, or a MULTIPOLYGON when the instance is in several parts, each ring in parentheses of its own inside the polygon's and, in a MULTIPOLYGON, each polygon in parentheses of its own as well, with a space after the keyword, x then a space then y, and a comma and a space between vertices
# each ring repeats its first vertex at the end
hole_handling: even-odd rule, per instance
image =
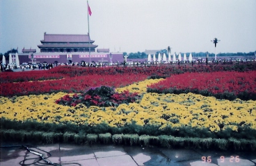
POLYGON ((79 66, 57 66, 49 70, 49 73, 60 73, 68 77, 80 75, 116 75, 122 73, 134 73, 143 75, 170 76, 180 73, 205 73, 214 71, 256 71, 256 62, 226 64, 226 65, 160 65, 160 66, 129 66, 129 67, 102 67, 102 68, 81 68, 79 66))

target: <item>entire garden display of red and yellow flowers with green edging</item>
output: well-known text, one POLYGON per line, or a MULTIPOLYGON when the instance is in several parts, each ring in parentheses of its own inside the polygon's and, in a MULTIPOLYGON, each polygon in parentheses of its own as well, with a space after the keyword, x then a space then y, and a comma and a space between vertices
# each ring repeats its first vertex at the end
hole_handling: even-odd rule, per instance
MULTIPOLYGON (((218 68, 218 66, 209 68, 215 67, 218 68)), ((198 66, 193 70, 200 71, 200 68, 198 66)), ((230 66, 230 68, 232 67, 230 66)), ((23 130, 24 133, 34 136, 35 134, 31 131, 38 131, 37 136, 41 134, 40 136, 47 136, 48 139, 48 133, 53 133, 53 139, 60 136, 60 139, 64 140, 67 137, 72 137, 71 133, 74 133, 73 135, 76 135, 73 136, 75 142, 78 141, 75 139, 80 141, 83 138, 94 142, 96 138, 111 139, 112 136, 115 143, 118 141, 115 138, 122 137, 122 133, 124 133, 123 142, 129 142, 129 136, 133 140, 148 138, 161 140, 159 144, 166 147, 172 147, 179 140, 185 141, 187 137, 190 137, 188 141, 192 142, 194 140, 196 142, 199 138, 207 139, 209 145, 212 146, 218 142, 220 145, 223 142, 232 143, 232 140, 246 144, 247 140, 242 141, 241 138, 251 140, 252 144, 255 142, 255 100, 237 98, 223 100, 213 96, 204 96, 212 94, 218 97, 218 94, 223 94, 225 91, 237 96, 246 91, 255 95, 255 71, 184 73, 167 77, 174 71, 183 73, 182 70, 185 69, 172 69, 166 68, 166 66, 151 69, 150 67, 73 68, 65 66, 54 70, 45 71, 45 73, 47 75, 63 75, 64 78, 44 82, 13 83, 10 81, 1 84, 1 133, 10 136, 13 134, 10 129, 15 129, 16 131, 23 130), (166 69, 170 69, 170 71, 166 71, 166 69), (100 75, 95 75, 93 70, 99 71, 100 75), (57 71, 60 73, 56 73, 57 71), (167 78, 147 79, 149 77, 167 78), (208 84, 211 86, 207 86, 208 84), (114 104, 112 107, 107 104, 99 104, 104 102, 104 100, 100 100, 102 95, 85 93, 92 87, 96 89, 96 87, 102 86, 115 87, 115 92, 107 98, 116 99, 118 104, 114 104), (159 93, 150 92, 152 87, 159 93), (191 89, 196 91, 191 93, 191 89), (195 94, 195 92, 201 91, 207 91, 207 93, 195 94), (134 94, 140 95, 141 98, 130 100, 129 102, 132 101, 132 103, 122 103, 124 100, 121 99, 128 99, 134 94), (76 102, 80 100, 80 97, 83 97, 83 100, 76 102), (95 98, 97 103, 90 98, 95 98), (71 99, 75 104, 72 102, 57 104, 56 101, 60 102, 60 99, 63 99, 63 103, 65 100, 71 99), (87 102, 89 104, 86 104, 87 102), (83 133, 88 134, 84 135, 83 133), (102 133, 111 135, 105 134, 105 136, 102 133), (223 142, 220 142, 222 140, 223 142)), ((24 136, 22 133, 19 135, 24 136)), ((109 142, 110 140, 104 141, 109 142)))

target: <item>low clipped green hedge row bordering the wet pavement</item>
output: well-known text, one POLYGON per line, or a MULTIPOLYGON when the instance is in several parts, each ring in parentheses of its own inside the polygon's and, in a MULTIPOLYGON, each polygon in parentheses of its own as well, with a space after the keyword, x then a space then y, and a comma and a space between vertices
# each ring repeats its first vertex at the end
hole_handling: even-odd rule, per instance
POLYGON ((256 151, 256 140, 246 139, 218 139, 218 138, 182 138, 175 136, 148 136, 138 134, 114 134, 111 133, 54 133, 43 131, 15 131, 13 129, 0 130, 2 141, 18 142, 44 142, 44 143, 76 143, 76 144, 109 144, 115 145, 157 145, 168 148, 187 149, 216 149, 216 150, 241 150, 256 151))

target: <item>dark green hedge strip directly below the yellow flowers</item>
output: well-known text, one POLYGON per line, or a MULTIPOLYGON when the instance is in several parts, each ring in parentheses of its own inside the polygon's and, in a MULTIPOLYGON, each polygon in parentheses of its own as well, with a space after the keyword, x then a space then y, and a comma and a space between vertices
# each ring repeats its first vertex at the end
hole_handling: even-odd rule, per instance
MULTIPOLYGON (((190 138, 245 138, 245 139, 256 139, 256 130, 250 129, 249 127, 239 127, 238 131, 232 131, 231 129, 225 129, 224 131, 211 132, 207 128, 196 128, 183 126, 179 128, 174 128, 167 126, 164 129, 159 129, 160 126, 145 124, 144 126, 132 122, 123 127, 109 127, 108 124, 102 123, 97 124, 93 127, 90 125, 80 125, 66 123, 66 124, 54 124, 54 123, 40 123, 36 121, 26 120, 24 122, 15 120, 6 120, 5 118, 0 118, 1 129, 14 129, 16 131, 35 131, 37 132, 47 132, 47 133, 65 133, 65 139, 73 139, 78 136, 70 136, 68 133, 110 133, 115 134, 138 134, 138 136, 160 136, 160 135, 172 135, 175 137, 190 137, 190 138)), ((23 133, 19 133, 22 135, 23 133)), ((23 136, 21 136, 22 138, 23 136)), ((47 136, 46 136, 47 137, 47 136)), ((58 138, 58 136, 56 136, 58 138)), ((56 139, 57 139, 56 138, 56 139)), ((109 135, 100 135, 99 140, 102 142, 109 142, 109 135)), ((147 141, 147 139, 144 139, 147 141)), ((135 141, 135 140, 134 140, 135 141)), ((138 140, 143 141, 143 140, 138 140)), ((129 144, 129 142, 127 142, 129 144)), ((134 144, 134 142, 132 142, 134 144)))

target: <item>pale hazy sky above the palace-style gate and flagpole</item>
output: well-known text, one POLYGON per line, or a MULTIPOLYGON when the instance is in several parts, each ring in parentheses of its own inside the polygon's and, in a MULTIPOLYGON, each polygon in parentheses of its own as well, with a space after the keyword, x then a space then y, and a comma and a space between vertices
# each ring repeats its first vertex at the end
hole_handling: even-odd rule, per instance
MULTIPOLYGON (((256 50, 255 0, 88 0, 97 48, 136 53, 256 50)), ((87 34, 86 0, 0 0, 0 53, 36 48, 47 34, 87 34)))

